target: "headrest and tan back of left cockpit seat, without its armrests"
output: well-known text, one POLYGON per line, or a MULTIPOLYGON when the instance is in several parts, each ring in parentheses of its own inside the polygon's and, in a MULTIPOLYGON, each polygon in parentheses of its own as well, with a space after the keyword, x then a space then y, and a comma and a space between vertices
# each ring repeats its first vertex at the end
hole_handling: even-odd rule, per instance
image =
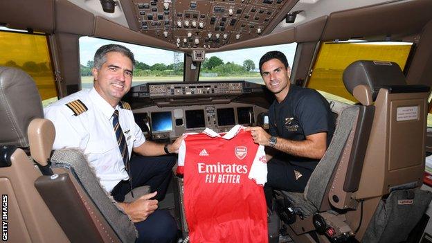
POLYGON ((42 173, 25 152, 28 126, 43 117, 35 82, 20 69, 0 66, 0 100, 0 191, 8 205, 6 237, 12 242, 68 242, 33 186, 42 173))

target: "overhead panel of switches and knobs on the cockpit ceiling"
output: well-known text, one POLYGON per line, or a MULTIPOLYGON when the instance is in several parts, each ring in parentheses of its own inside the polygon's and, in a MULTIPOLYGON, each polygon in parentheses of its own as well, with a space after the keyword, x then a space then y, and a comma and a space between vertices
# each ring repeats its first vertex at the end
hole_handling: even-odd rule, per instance
POLYGON ((179 48, 219 48, 271 32, 296 0, 132 0, 141 33, 179 48), (285 13, 284 13, 285 12, 285 13), (271 29, 270 29, 271 28, 271 29))

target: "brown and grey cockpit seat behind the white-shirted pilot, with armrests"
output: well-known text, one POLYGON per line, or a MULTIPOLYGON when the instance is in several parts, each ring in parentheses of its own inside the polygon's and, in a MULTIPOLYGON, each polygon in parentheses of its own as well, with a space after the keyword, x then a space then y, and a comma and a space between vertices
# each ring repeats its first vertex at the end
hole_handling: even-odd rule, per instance
POLYGON ((0 190, 12 242, 134 242, 136 231, 78 150, 51 150, 33 79, 0 66, 0 190), (51 164, 52 162, 52 164, 51 164), (37 166, 35 166, 37 165, 37 166))

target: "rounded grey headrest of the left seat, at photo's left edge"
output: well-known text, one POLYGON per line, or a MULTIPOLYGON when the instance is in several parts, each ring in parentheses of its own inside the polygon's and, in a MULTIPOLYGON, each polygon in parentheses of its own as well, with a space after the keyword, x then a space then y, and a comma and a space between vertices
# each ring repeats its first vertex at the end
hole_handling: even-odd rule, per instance
POLYGON ((0 117, 0 144, 28 147, 28 124, 44 111, 33 78, 21 69, 0 66, 0 117))

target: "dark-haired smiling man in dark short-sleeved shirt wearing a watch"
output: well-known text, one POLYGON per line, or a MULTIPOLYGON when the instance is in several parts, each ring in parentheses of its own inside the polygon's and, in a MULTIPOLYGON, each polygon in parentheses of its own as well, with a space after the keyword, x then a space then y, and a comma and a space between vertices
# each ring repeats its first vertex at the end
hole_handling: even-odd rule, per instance
POLYGON ((260 73, 275 100, 269 107, 269 133, 248 127, 253 141, 267 147, 267 206, 273 189, 303 192, 334 132, 334 116, 320 93, 290 84, 291 69, 280 51, 260 59, 260 73), (269 147, 271 147, 269 149, 269 147))

